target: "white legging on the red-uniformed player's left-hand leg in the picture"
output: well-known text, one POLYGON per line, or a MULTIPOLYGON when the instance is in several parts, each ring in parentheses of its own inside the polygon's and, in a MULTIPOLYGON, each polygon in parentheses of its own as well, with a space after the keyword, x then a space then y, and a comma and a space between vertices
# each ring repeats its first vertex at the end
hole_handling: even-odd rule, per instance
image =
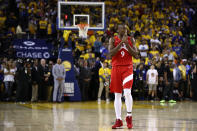
POLYGON ((121 97, 122 97, 121 93, 115 93, 114 108, 116 113, 116 119, 120 119, 120 120, 121 120, 121 108, 122 108, 121 97))

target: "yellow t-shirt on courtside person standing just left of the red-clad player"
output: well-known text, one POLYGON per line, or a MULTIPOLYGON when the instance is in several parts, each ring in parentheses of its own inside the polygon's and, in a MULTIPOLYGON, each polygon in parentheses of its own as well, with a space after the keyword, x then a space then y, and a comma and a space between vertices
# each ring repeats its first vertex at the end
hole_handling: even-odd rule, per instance
POLYGON ((109 68, 101 67, 99 69, 99 81, 103 82, 103 79, 110 79, 111 70, 109 68))

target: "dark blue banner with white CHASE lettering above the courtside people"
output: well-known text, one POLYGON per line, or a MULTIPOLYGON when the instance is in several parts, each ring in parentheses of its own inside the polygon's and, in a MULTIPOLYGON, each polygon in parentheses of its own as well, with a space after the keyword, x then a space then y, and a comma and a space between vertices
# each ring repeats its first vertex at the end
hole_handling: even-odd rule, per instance
POLYGON ((41 39, 16 39, 13 41, 18 58, 52 58, 53 45, 41 39))

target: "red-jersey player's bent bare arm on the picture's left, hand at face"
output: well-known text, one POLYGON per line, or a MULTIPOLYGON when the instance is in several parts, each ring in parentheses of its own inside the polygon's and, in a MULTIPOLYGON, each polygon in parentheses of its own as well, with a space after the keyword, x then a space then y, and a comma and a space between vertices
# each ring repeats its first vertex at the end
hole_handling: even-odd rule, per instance
POLYGON ((114 46, 114 38, 113 37, 111 37, 110 39, 109 39, 109 47, 108 47, 108 50, 109 50, 109 55, 110 56, 114 56, 118 51, 119 51, 119 49, 121 48, 121 46, 122 46, 122 41, 115 47, 114 46))

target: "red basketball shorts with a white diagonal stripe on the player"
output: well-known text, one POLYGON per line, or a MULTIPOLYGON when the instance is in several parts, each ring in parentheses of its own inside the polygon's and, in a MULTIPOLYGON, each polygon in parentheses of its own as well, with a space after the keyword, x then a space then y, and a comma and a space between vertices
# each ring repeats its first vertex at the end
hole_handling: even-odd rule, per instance
POLYGON ((131 89, 133 85, 133 66, 113 66, 111 72, 110 91, 122 93, 122 90, 131 89))

